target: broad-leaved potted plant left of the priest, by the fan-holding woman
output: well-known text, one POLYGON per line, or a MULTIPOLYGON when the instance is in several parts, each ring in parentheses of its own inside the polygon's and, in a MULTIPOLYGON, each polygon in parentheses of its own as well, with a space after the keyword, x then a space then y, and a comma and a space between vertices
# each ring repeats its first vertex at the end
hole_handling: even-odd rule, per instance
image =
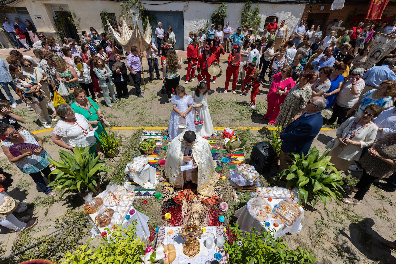
POLYGON ((88 192, 98 193, 99 173, 111 170, 104 165, 104 161, 99 160, 99 155, 95 158, 88 150, 89 146, 86 148, 76 146, 73 153, 60 150, 59 161, 48 159, 56 168, 49 174, 56 177, 49 182, 48 187, 65 190, 62 196, 69 191, 76 192, 80 196, 85 196, 88 192))

